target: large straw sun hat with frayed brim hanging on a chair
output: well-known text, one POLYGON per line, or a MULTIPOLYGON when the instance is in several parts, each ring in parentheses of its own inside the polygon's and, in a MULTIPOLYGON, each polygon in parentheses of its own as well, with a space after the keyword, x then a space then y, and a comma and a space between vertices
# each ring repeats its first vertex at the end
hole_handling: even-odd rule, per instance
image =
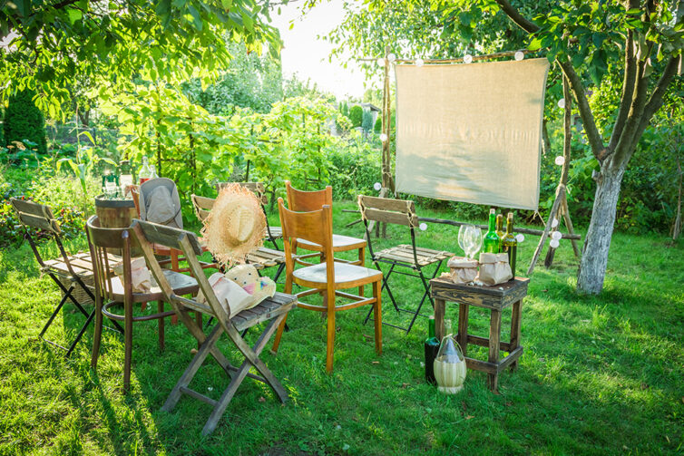
POLYGON ((201 235, 221 265, 243 263, 252 250, 263 245, 266 216, 259 199, 237 183, 220 189, 201 235))

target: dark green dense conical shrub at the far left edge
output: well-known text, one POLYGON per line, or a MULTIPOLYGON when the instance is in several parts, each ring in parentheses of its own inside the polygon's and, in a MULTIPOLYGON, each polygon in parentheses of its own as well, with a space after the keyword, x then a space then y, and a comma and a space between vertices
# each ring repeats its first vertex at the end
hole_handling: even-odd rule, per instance
POLYGON ((9 97, 5 110, 5 144, 14 141, 23 142, 28 140, 36 144, 39 154, 47 153, 47 141, 45 139, 45 121, 43 112, 35 107, 34 92, 24 90, 16 92, 9 97))

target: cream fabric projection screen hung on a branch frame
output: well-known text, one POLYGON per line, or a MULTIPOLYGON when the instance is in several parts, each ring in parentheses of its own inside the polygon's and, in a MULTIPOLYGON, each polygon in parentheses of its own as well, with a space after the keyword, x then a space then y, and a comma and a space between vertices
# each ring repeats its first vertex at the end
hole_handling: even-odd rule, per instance
POLYGON ((396 189, 536 210, 548 71, 546 59, 396 65, 396 189))

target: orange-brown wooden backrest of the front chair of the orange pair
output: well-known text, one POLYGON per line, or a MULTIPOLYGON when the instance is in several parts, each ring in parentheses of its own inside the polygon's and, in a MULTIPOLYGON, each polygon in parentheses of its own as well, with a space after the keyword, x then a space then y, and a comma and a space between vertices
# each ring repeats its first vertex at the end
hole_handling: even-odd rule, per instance
POLYGON ((321 209, 308 212, 297 212, 285 207, 282 198, 278 198, 278 213, 283 229, 283 243, 285 245, 285 266, 288 274, 295 267, 292 256, 292 239, 306 239, 322 247, 327 258, 327 277, 335 277, 333 260, 333 223, 332 208, 325 204, 321 209))

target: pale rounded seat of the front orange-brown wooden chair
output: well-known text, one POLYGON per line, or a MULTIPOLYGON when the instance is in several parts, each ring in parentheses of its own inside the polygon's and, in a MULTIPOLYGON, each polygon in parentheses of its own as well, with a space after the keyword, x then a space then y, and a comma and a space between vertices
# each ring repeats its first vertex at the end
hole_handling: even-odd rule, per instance
MULTIPOLYGON (((298 285, 325 288, 327 286, 326 263, 296 269, 292 277, 298 285)), ((377 269, 335 262, 335 289, 363 286, 375 282, 380 277, 382 273, 377 269)))

